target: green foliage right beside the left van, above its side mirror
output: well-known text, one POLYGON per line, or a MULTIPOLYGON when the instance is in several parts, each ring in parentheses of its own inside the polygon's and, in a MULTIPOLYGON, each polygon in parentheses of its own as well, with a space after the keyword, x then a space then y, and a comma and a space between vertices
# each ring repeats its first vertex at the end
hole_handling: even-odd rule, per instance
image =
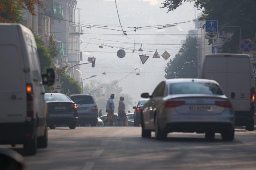
POLYGON ((53 67, 52 57, 49 50, 44 47, 44 42, 37 35, 34 35, 34 37, 38 49, 38 57, 42 72, 46 72, 47 68, 53 67))

